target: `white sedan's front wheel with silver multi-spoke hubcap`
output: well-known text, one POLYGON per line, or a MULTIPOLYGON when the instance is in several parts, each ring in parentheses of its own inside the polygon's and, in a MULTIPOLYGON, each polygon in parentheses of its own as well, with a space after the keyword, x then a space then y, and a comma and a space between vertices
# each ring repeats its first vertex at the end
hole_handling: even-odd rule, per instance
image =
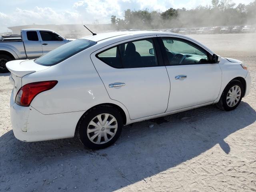
POLYGON ((232 80, 222 92, 217 103, 218 108, 225 111, 234 110, 240 104, 243 93, 244 87, 242 83, 239 80, 232 80))

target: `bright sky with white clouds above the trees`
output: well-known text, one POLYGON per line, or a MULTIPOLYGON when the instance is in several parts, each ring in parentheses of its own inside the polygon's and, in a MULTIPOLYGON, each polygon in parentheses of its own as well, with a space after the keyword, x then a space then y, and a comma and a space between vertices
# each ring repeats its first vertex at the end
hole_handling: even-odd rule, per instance
MULTIPOLYGON (((233 0, 236 5, 252 1, 233 0)), ((111 15, 123 18, 128 8, 165 11, 210 4, 211 0, 0 0, 0 32, 27 24, 106 24, 111 15)))

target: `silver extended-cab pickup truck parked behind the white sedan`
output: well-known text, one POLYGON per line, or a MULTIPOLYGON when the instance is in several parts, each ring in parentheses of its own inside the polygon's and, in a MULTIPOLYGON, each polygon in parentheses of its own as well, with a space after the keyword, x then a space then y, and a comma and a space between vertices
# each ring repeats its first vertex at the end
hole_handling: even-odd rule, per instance
POLYGON ((0 73, 8 72, 6 62, 38 58, 73 39, 66 39, 51 30, 22 29, 21 38, 0 41, 0 73))

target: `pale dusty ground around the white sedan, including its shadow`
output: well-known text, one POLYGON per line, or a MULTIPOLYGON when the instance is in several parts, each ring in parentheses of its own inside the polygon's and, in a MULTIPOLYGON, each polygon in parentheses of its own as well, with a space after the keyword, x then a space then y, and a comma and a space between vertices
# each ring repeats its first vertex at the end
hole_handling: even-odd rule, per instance
POLYGON ((14 138, 12 86, 0 74, 0 191, 256 191, 256 34, 193 38, 247 63, 250 95, 231 112, 206 106, 126 126, 116 145, 95 152, 76 138, 14 138))

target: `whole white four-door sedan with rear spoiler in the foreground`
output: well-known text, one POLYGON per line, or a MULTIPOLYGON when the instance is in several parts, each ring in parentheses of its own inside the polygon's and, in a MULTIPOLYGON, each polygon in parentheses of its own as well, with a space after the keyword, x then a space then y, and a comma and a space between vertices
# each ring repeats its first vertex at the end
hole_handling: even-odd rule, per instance
POLYGON ((26 142, 74 137, 91 149, 113 144, 124 125, 216 104, 234 110, 250 74, 238 60, 168 32, 109 32, 6 64, 11 122, 26 142))

